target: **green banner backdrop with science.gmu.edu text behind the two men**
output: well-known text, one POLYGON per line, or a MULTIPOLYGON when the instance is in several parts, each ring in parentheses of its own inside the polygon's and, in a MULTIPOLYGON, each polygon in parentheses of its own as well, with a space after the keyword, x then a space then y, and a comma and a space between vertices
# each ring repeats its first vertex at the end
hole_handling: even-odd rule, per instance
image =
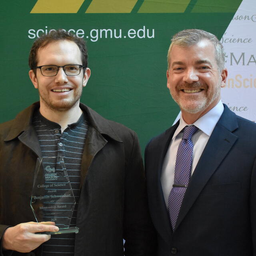
POLYGON ((241 1, 2 1, 0 122, 38 100, 28 77, 28 54, 36 32, 79 30, 88 45, 92 71, 81 102, 135 130, 143 151, 148 140, 170 127, 179 112, 166 88, 170 38, 182 29, 199 28, 220 39, 241 1), (118 38, 120 30, 122 38, 118 38))

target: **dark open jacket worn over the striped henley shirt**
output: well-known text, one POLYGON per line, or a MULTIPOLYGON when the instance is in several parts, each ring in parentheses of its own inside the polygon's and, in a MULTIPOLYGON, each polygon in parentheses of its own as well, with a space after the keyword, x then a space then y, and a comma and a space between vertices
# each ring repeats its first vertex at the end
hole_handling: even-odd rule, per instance
MULTIPOLYGON (((30 195, 41 151, 31 119, 38 107, 35 103, 0 125, 0 237, 8 226, 35 221, 30 195)), ((155 255, 135 132, 104 119, 84 104, 80 108, 87 113, 89 129, 81 165, 75 255, 155 255)), ((12 255, 40 256, 41 248, 12 255)), ((10 251, 2 253, 9 255, 10 251)))

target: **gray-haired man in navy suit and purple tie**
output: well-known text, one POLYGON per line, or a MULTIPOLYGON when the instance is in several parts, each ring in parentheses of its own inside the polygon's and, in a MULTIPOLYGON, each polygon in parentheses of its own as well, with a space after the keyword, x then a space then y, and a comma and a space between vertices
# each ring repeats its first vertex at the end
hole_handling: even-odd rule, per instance
POLYGON ((216 36, 174 35, 167 87, 181 117, 145 151, 158 256, 256 255, 256 124, 222 104, 226 78, 216 36))

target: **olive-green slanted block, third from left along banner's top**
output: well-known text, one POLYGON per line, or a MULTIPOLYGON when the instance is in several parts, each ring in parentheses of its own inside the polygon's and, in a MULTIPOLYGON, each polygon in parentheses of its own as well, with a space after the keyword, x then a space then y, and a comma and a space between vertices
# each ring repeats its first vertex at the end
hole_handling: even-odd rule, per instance
POLYGON ((138 13, 180 13, 184 12, 190 0, 144 0, 138 13))

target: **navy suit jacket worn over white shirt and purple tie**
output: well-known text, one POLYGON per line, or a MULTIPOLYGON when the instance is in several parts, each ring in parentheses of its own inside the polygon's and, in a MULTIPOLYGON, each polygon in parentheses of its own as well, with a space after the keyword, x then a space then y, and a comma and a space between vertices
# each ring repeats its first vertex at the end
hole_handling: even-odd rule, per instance
POLYGON ((224 105, 190 178, 172 232, 160 176, 178 123, 153 138, 145 150, 157 255, 256 256, 256 124, 224 105))

